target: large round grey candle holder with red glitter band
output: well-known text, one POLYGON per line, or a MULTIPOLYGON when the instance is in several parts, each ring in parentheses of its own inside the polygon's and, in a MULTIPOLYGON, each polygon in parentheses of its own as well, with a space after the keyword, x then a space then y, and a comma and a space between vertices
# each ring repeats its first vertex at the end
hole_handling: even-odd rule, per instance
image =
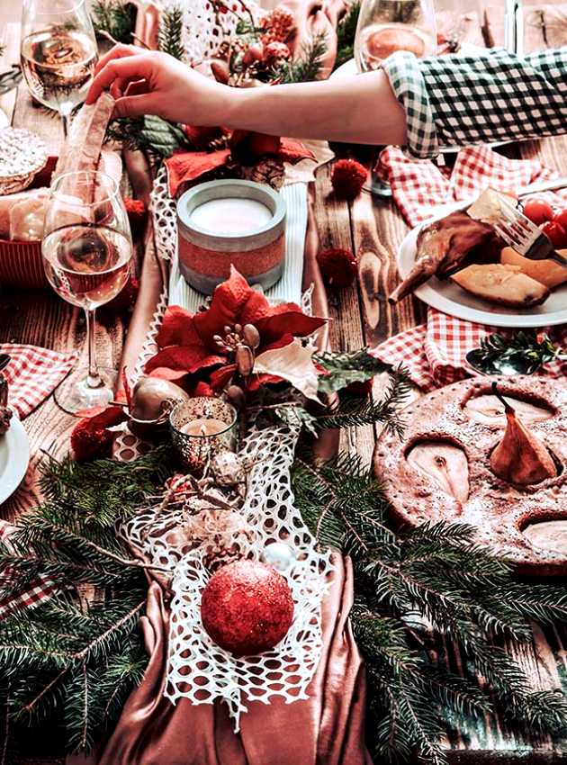
POLYGON ((179 267, 200 293, 211 294, 235 266, 249 284, 273 286, 284 271, 285 202, 252 181, 209 181, 177 202, 179 267))

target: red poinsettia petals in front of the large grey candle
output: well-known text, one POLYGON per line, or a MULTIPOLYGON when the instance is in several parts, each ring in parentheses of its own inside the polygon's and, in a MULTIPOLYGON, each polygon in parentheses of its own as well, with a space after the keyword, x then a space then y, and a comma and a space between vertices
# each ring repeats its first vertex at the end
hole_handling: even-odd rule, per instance
MULTIPOLYGON (((189 392, 200 383, 221 391, 236 372, 228 353, 214 340, 215 335, 224 336, 226 326, 253 324, 260 336, 257 356, 261 356, 293 343, 294 338, 311 335, 325 321, 306 316, 295 303, 270 305, 233 267, 229 280, 216 288, 207 311, 190 313, 179 306, 167 309, 157 334, 159 351, 149 359, 146 373, 171 380, 189 392)), ((280 382, 280 378, 254 375, 249 387, 254 390, 266 382, 280 382)))

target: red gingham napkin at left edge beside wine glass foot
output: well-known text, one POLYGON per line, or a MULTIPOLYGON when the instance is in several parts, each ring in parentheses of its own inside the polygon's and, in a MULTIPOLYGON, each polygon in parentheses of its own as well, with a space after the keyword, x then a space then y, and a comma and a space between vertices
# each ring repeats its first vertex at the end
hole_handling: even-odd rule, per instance
POLYGON ((48 348, 0 345, 0 354, 9 354, 12 361, 4 370, 8 381, 8 403, 23 419, 47 399, 65 379, 76 363, 75 351, 61 354, 48 348))

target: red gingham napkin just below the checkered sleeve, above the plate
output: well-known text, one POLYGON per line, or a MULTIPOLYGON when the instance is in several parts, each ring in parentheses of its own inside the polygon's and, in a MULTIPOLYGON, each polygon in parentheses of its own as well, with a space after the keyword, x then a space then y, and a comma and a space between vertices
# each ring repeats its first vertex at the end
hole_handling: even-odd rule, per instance
POLYGON ((514 194, 558 175, 536 159, 509 159, 488 146, 462 148, 453 169, 430 159, 411 159, 391 146, 381 153, 376 172, 392 185, 393 198, 412 227, 431 218, 441 205, 474 199, 489 186, 514 194))

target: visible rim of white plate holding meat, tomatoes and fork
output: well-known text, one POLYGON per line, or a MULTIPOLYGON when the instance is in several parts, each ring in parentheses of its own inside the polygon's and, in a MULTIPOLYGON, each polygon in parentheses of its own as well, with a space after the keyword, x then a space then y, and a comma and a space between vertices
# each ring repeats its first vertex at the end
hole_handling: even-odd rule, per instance
MULTIPOLYGON (((470 203, 459 203, 446 207, 435 218, 426 220, 410 231, 398 250, 398 273, 401 278, 410 273, 416 261, 416 243, 419 230, 434 220, 444 218, 449 212, 468 207, 470 203)), ((465 293, 450 279, 441 280, 437 279, 436 276, 432 276, 426 284, 422 284, 414 294, 431 308, 437 308, 438 311, 456 316, 457 319, 476 321, 478 324, 491 324, 494 327, 521 329, 546 327, 567 322, 567 284, 555 289, 543 305, 536 305, 534 308, 521 311, 521 313, 518 312, 518 309, 507 309, 483 301, 470 293, 465 293)))

